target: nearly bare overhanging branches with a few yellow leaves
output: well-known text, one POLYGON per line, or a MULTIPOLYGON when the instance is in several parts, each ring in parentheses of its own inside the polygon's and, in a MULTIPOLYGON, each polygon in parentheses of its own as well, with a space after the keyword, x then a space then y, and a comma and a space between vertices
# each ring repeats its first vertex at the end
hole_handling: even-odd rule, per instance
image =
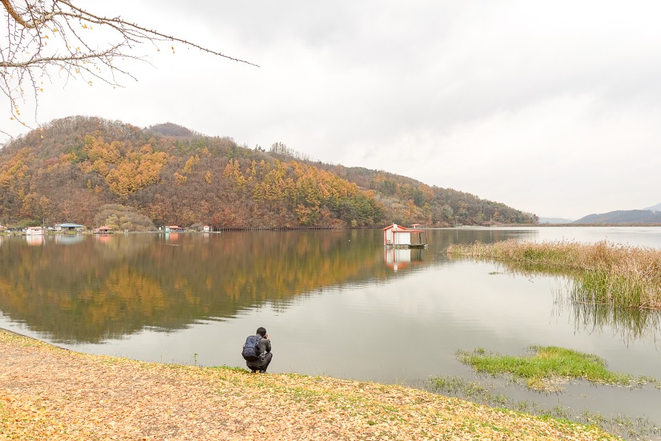
MULTIPOLYGON (((120 62, 144 60, 135 48, 168 43, 174 53, 179 43, 222 58, 239 60, 203 45, 164 34, 121 18, 96 14, 77 0, 0 0, 6 40, 0 46, 0 90, 10 103, 11 119, 23 123, 21 105, 38 103, 44 79, 52 73, 64 79, 82 79, 120 86, 118 77, 135 79, 120 62)), ((256 64, 252 64, 257 66, 256 64)), ((35 108, 36 117, 36 108, 35 108)), ((0 132, 5 133, 0 129, 0 132)))

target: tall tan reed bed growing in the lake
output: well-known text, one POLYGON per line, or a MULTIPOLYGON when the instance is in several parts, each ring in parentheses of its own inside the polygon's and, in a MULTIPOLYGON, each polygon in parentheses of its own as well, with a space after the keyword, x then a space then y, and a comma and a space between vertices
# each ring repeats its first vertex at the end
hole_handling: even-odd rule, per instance
POLYGON ((575 279, 574 301, 661 310, 661 250, 583 242, 452 244, 448 255, 514 262, 521 270, 563 273, 575 279))

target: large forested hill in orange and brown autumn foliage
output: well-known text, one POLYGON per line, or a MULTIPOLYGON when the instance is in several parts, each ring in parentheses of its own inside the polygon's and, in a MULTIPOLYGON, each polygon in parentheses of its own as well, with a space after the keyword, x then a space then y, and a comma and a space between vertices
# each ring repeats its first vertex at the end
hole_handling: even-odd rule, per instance
POLYGON ((502 203, 383 171, 311 162, 171 123, 71 116, 0 150, 0 223, 120 229, 534 223, 502 203))

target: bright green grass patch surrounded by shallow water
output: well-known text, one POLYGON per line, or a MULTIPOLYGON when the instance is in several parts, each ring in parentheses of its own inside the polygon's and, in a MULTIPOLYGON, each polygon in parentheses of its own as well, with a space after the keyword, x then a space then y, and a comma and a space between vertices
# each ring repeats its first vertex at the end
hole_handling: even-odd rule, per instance
POLYGON ((470 364, 477 373, 512 375, 526 381, 533 390, 559 390, 560 383, 571 378, 582 378, 593 383, 632 386, 644 381, 632 375, 613 373, 597 355, 581 353, 557 346, 530 346, 526 356, 486 353, 483 349, 472 353, 458 351, 458 360, 470 364))

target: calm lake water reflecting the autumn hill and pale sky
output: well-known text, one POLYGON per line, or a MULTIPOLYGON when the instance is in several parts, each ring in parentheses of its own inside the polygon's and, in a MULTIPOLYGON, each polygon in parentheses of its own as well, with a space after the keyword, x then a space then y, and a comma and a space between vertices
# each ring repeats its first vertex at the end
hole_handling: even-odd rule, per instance
POLYGON ((565 277, 443 251, 509 238, 661 248, 661 227, 432 229, 428 249, 394 252, 380 229, 0 236, 0 327, 86 353, 244 366, 241 346, 264 326, 272 373, 414 387, 454 375, 547 407, 661 423, 661 390, 649 386, 575 381, 539 394, 456 360, 556 345, 661 379, 660 314, 572 305, 565 277))

